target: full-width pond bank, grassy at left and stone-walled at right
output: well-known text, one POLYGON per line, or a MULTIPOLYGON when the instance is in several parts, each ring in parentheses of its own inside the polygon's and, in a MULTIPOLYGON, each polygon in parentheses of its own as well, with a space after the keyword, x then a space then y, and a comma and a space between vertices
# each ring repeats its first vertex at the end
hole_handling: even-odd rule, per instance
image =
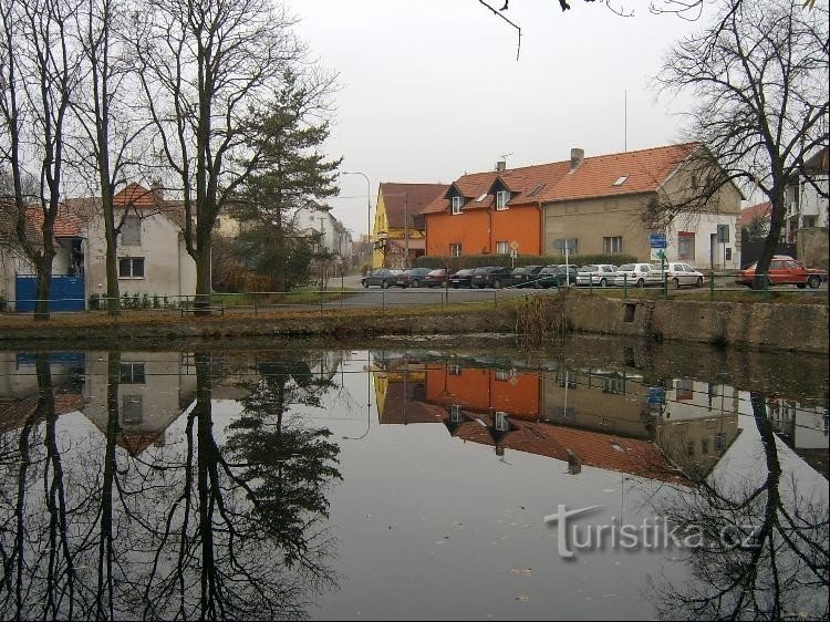
MULTIPOLYGON (((541 300, 541 299, 540 299, 541 300)), ((826 305, 734 303, 678 300, 625 300, 570 294, 544 299, 535 320, 540 333, 553 339, 551 318, 563 319, 569 332, 637 336, 652 341, 707 343, 719 348, 827 354, 826 305)), ((128 346, 138 342, 190 343, 194 340, 309 339, 338 341, 432 335, 469 339, 470 334, 517 334, 522 303, 444 309, 271 311, 252 315, 234 312, 181 317, 178 312, 131 312, 112 319, 83 313, 34 322, 0 317, 0 348, 60 343, 128 346)))

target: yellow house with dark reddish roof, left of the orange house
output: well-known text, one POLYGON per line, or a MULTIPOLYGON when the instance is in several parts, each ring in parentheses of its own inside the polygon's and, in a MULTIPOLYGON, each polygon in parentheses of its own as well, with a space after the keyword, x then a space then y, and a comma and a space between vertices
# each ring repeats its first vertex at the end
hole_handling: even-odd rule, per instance
POLYGON ((408 268, 425 255, 423 211, 448 188, 446 184, 382 183, 378 186, 372 268, 408 268))

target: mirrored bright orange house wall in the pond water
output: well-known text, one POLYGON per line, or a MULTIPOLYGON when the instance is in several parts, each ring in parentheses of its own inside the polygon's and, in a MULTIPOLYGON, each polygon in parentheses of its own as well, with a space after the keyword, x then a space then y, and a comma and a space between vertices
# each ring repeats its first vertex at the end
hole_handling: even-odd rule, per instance
POLYGON ((497 411, 511 417, 539 417, 540 376, 537 372, 511 372, 430 365, 426 371, 426 401, 469 411, 497 411))

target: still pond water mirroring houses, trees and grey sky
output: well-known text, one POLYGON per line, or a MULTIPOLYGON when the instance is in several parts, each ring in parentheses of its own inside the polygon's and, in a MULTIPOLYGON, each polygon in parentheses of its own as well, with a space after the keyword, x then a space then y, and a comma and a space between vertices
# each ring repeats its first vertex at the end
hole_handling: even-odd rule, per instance
POLYGON ((428 348, 0 352, 0 618, 827 618, 826 359, 428 348))

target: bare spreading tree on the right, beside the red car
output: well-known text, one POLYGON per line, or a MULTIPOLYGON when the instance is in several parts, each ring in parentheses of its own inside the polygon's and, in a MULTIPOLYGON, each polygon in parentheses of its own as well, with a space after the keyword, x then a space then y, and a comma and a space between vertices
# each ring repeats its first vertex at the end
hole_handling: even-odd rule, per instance
POLYGON ((754 288, 762 287, 780 239, 788 184, 808 173, 805 163, 829 142, 828 35, 827 7, 724 0, 713 25, 682 40, 655 77, 661 93, 696 96, 689 138, 706 146, 701 157, 714 156, 722 167, 662 209, 702 209, 729 183, 757 188, 772 206, 754 288))

